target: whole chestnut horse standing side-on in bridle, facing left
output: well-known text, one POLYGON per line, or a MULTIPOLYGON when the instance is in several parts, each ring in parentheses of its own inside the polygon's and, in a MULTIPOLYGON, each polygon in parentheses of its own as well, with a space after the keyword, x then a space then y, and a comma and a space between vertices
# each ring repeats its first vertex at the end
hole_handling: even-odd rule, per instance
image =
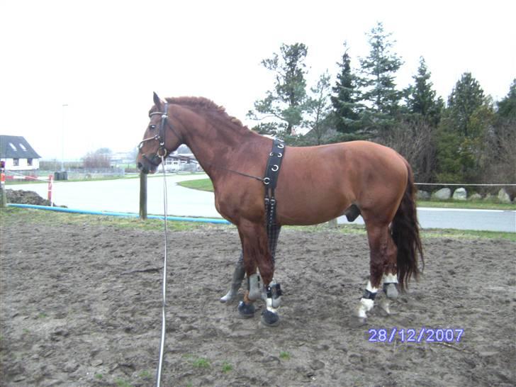
MULTIPOLYGON (((213 182, 217 211, 237 226, 248 278, 259 269, 264 286, 269 286, 274 261, 262 176, 273 141, 208 99, 162 101, 155 94, 154 103, 140 142, 138 168, 154 173, 162 157, 188 145, 213 182)), ((422 258, 422 246, 410 165, 391 148, 368 141, 286 147, 284 155, 275 191, 276 224, 315 225, 343 214, 364 218, 370 276, 356 310, 364 319, 382 281, 387 298, 396 298, 397 286, 403 291, 410 277, 420 273, 417 256, 422 258)), ((242 308, 255 299, 247 292, 242 308)), ((278 322, 276 306, 267 298, 265 324, 278 322)), ((388 312, 388 301, 382 307, 388 312)))

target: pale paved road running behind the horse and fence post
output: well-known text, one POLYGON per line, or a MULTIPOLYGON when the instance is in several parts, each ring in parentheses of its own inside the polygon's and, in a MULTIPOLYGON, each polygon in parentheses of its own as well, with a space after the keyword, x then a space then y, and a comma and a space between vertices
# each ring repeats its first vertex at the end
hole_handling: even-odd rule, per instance
MULTIPOLYGON (((213 193, 176 185, 177 181, 204 178, 205 174, 167 177, 169 215, 220 218, 215 210, 213 193)), ((57 181, 54 184, 54 201, 59 205, 86 211, 138 213, 139 186, 139 179, 57 181)), ((36 191, 44 198, 47 196, 46 184, 9 185, 7 188, 26 189, 36 191)), ((147 211, 150 214, 163 213, 163 179, 160 176, 147 179, 147 211)), ((516 211, 418 208, 417 215, 422 228, 516 232, 516 211)), ((338 222, 347 223, 347 220, 342 216, 338 222)), ((364 222, 359 217, 354 223, 364 222)))

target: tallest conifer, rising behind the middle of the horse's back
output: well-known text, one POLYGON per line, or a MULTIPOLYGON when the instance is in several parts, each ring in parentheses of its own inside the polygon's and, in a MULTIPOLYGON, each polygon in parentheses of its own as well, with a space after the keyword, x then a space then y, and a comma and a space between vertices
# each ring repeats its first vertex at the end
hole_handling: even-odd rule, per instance
POLYGON ((373 134, 388 129, 396 120, 401 92, 396 90, 394 78, 400 69, 400 57, 392 52, 391 33, 377 23, 368 33, 371 50, 369 56, 360 59, 362 99, 369 103, 361 112, 361 118, 373 134))

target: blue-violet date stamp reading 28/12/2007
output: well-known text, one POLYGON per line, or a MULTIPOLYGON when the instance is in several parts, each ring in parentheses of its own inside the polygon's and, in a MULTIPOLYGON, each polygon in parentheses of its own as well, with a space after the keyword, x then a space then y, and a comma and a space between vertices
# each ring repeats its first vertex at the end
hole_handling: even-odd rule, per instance
POLYGON ((367 331, 369 342, 460 342, 464 335, 461 328, 426 328, 398 329, 371 328, 367 331))

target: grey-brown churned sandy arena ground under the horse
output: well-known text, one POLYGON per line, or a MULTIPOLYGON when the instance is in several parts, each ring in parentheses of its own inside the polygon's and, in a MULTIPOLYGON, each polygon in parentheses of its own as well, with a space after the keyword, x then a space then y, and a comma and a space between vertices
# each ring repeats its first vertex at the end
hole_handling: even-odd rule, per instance
MULTIPOLYGON (((161 232, 10 215, 0 243, 1 386, 154 385, 161 232)), ((422 279, 360 326, 365 235, 283 230, 275 328, 262 303, 243 320, 218 301, 239 246, 235 228, 170 233, 163 386, 515 386, 515 242, 425 239, 422 279), (405 340, 369 341, 394 327, 405 340), (406 342, 422 327, 454 341, 406 342)))

